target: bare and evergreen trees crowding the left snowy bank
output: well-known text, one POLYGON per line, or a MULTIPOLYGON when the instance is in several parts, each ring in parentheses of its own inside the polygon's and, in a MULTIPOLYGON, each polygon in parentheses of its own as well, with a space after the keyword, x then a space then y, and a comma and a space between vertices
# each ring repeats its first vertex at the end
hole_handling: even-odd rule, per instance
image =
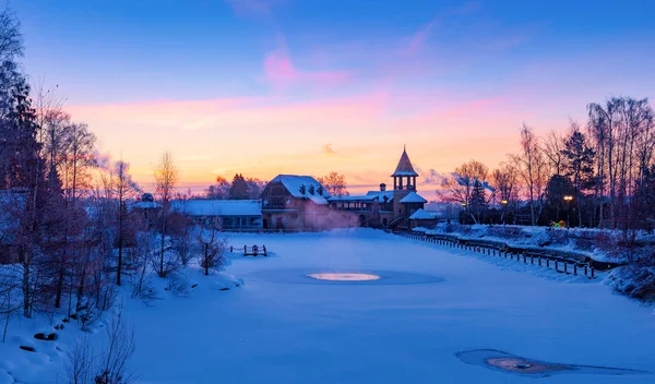
POLYGON ((210 241, 200 241, 202 229, 172 209, 180 199, 172 155, 165 152, 154 169, 155 195, 140 201, 129 164, 98 163, 95 135, 64 111, 56 89, 31 87, 20 70, 23 52, 20 23, 5 9, 0 12, 2 340, 17 315, 45 314, 53 323, 63 316, 86 327, 112 308, 116 287, 126 281, 132 296, 144 300, 154 295, 155 274, 184 289, 176 273, 195 257, 201 263, 204 243, 211 250, 204 272, 221 268, 225 238, 212 232, 210 241))

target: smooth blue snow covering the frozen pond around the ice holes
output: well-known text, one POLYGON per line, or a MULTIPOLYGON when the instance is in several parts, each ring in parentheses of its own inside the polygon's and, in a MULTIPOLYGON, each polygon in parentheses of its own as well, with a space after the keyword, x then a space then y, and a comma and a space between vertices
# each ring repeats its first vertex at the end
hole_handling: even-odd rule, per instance
MULTIPOLYGON (((191 272, 199 286, 187 298, 126 300, 140 383, 535 383, 456 356, 477 349, 655 372, 655 312, 614 295, 603 275, 565 276, 370 229, 235 233, 229 242, 265 244, 276 256, 233 260, 226 272, 238 278, 191 272), (308 277, 318 273, 380 279, 308 277)), ((70 328, 57 341, 38 341, 36 322, 13 322, 11 337, 27 340, 0 345, 0 383, 13 383, 7 372, 16 382, 55 383, 61 357, 38 344, 66 350, 80 336, 70 328), (37 352, 17 349, 28 341, 37 352)), ((561 373, 549 382, 654 380, 561 373)))

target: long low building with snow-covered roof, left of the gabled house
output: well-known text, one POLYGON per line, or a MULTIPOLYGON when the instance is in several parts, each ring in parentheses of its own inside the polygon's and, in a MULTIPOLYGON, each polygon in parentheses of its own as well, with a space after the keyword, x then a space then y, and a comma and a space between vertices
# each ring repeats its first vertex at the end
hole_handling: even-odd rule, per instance
POLYGON ((262 204, 252 200, 176 200, 174 212, 189 215, 196 224, 217 224, 223 230, 262 228, 262 204))

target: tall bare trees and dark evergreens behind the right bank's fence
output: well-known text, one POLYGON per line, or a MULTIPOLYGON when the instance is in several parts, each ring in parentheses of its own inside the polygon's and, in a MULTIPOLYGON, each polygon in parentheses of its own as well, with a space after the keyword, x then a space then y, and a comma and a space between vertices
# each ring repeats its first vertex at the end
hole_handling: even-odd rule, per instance
POLYGON ((439 192, 472 223, 512 223, 653 230, 655 124, 648 99, 612 97, 587 106, 586 127, 539 137, 524 124, 520 151, 492 172, 468 161, 439 192))

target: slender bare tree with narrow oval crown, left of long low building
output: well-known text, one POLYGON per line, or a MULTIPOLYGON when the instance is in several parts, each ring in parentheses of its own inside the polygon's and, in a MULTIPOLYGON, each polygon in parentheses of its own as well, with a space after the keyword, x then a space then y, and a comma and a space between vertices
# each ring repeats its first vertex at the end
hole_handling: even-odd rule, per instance
POLYGON ((175 166, 175 160, 172 158, 172 153, 170 151, 165 151, 159 159, 159 164, 155 168, 155 182, 156 182, 156 193, 159 197, 159 204, 162 204, 162 219, 160 219, 160 236, 162 236, 162 247, 159 250, 159 268, 158 274, 160 277, 166 276, 166 271, 164 269, 164 253, 166 252, 166 217, 168 216, 168 212, 170 211, 170 201, 174 197, 175 185, 178 181, 178 170, 175 166))

